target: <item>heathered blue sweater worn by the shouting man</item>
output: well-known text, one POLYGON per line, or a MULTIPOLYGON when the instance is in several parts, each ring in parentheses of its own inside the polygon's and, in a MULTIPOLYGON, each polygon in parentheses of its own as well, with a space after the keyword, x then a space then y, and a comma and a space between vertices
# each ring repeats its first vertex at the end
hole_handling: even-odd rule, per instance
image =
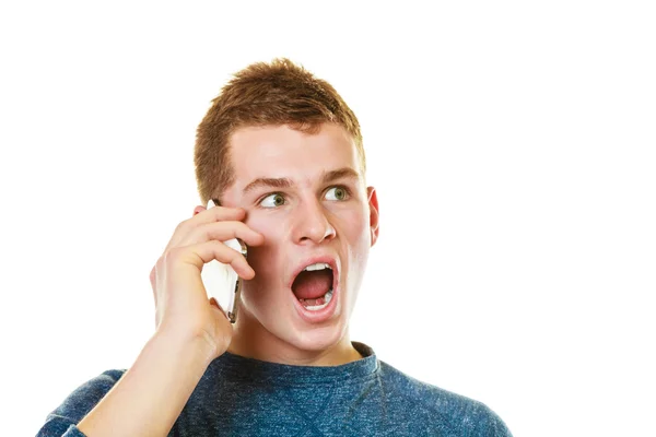
MULTIPOLYGON (((188 436, 494 436, 511 433, 484 404, 420 382, 353 342, 362 359, 289 366, 233 355, 214 359, 173 429, 188 436)), ((75 427, 125 370, 73 391, 37 437, 80 437, 75 427)))

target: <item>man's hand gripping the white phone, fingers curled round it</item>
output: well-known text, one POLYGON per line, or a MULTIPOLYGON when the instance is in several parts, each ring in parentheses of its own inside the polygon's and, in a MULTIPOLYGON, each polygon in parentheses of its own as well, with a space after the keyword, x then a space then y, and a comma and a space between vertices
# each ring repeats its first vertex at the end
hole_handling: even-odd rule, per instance
POLYGON ((214 206, 177 226, 150 274, 157 332, 183 341, 201 336, 214 350, 214 357, 227 350, 232 324, 216 300, 208 299, 200 272, 215 259, 245 280, 255 276, 244 256, 222 243, 232 238, 247 246, 263 243, 261 234, 242 222, 245 216, 243 209, 214 206))

